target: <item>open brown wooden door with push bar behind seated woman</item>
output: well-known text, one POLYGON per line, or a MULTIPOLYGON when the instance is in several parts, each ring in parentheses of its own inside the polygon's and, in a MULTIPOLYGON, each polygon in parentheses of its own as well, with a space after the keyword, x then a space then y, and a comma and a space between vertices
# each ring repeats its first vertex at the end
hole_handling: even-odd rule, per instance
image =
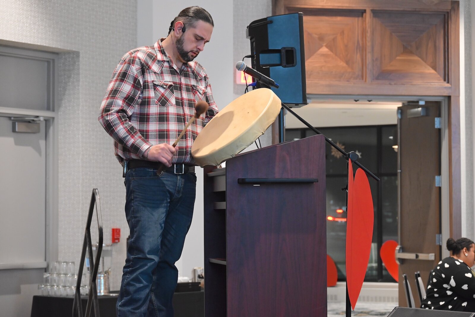
MULTIPOLYGON (((399 245, 402 252, 434 254, 434 260, 403 259, 399 265, 399 306, 408 306, 402 274, 408 276, 416 307, 420 306, 414 272, 427 283, 429 271, 440 261, 440 103, 409 103, 399 107, 399 245), (421 113, 421 112, 424 112, 421 113)), ((427 287, 427 285, 425 285, 427 287)))

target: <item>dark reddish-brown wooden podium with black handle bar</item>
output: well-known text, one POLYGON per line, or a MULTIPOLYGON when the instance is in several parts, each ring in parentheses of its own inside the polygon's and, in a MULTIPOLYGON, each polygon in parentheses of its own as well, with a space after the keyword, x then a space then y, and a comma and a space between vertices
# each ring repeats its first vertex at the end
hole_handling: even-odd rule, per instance
POLYGON ((323 136, 207 167, 204 195, 206 317, 327 315, 323 136))

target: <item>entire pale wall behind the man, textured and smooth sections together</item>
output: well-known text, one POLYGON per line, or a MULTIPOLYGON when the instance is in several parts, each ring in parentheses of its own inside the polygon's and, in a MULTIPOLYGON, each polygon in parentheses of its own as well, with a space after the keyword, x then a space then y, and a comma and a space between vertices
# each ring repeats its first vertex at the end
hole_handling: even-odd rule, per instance
MULTIPOLYGON (((159 37, 165 37, 171 19, 181 9, 202 6, 213 16, 215 28, 199 62, 208 71, 215 100, 222 109, 236 97, 234 65, 242 58, 238 56, 248 54, 249 47, 245 27, 254 19, 271 15, 270 3, 202 0, 163 5, 162 1, 152 0, 0 0, 1 44, 60 53, 57 65, 59 201, 55 211, 59 225, 57 250, 53 250, 57 257, 52 261, 72 260, 79 264, 90 195, 92 188, 97 187, 104 243, 111 242, 111 228, 122 230, 121 242, 113 247, 111 289, 120 286, 128 235, 123 211, 125 190, 112 139, 97 122, 106 86, 120 57, 134 47, 151 45, 159 37)), ((178 263, 182 275, 188 276, 194 266, 204 264, 202 175, 198 173, 198 177, 195 217, 178 263)))

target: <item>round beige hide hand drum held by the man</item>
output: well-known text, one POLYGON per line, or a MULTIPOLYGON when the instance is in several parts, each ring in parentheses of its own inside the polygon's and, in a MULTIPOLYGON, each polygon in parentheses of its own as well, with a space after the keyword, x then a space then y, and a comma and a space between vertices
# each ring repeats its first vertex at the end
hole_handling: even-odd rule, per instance
POLYGON ((268 88, 254 89, 229 103, 196 137, 191 148, 196 163, 219 165, 246 149, 276 120, 280 103, 268 88))

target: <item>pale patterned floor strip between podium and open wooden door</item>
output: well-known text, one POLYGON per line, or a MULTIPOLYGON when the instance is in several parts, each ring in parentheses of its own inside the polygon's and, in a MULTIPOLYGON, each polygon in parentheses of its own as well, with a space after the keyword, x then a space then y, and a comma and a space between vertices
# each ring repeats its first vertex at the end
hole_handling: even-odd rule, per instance
MULTIPOLYGON (((358 302, 352 316, 388 316, 396 306, 398 303, 358 302)), ((328 303, 328 317, 342 317, 345 314, 345 303, 328 303)))

